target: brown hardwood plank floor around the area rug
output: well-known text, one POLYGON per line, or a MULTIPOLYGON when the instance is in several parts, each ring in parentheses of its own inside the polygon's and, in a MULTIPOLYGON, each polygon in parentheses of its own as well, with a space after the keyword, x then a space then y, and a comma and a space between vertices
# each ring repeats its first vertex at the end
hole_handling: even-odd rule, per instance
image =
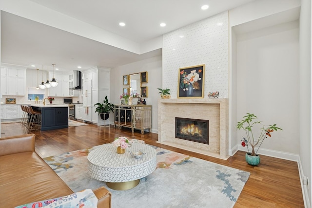
MULTIPOLYGON (((28 133, 20 123, 1 124, 1 138, 28 133)), ((41 157, 58 155, 68 151, 112 142, 118 136, 142 139, 146 144, 198 157, 221 165, 251 173, 234 208, 304 208, 296 162, 263 156, 258 166, 245 162, 245 152, 238 151, 228 160, 222 160, 191 151, 180 150, 156 143, 158 134, 130 129, 98 127, 93 124, 52 131, 34 131, 36 151, 41 157)), ((199 170, 200 171, 200 170, 199 170)), ((200 188, 199 188, 200 189, 200 188)), ((204 197, 204 196, 203 196, 204 197)))

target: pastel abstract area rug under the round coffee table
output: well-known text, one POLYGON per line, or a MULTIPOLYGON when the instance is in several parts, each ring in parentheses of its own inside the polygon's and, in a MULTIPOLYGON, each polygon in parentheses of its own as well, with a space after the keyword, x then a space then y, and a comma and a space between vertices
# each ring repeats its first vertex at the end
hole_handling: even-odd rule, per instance
POLYGON ((232 208, 250 172, 174 151, 155 148, 157 168, 137 187, 113 190, 87 173, 87 155, 100 146, 44 158, 73 190, 104 186, 112 193, 112 208, 232 208))

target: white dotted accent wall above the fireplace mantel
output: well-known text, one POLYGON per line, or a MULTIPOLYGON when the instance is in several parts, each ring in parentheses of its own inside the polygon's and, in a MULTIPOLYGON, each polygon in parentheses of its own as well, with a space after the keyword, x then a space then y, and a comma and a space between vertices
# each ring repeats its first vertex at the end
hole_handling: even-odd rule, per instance
POLYGON ((204 98, 229 97, 229 17, 223 12, 163 36, 163 88, 177 97, 178 69, 205 64, 204 98))

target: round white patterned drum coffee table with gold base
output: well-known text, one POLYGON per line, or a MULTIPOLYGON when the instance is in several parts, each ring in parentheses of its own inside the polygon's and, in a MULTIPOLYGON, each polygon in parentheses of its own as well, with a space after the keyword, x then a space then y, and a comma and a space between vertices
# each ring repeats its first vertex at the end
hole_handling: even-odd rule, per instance
POLYGON ((102 145, 88 154, 88 173, 91 177, 105 181, 115 190, 136 187, 140 179, 156 169, 156 150, 148 145, 133 143, 124 154, 118 154, 112 143, 102 145), (135 159, 129 151, 146 153, 135 159))

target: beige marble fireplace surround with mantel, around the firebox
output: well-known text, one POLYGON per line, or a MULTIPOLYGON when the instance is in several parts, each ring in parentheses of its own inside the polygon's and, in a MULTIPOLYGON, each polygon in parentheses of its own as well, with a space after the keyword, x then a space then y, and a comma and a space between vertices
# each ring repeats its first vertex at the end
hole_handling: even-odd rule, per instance
POLYGON ((158 100, 158 143, 228 159, 228 104, 226 98, 179 98, 158 100), (209 145, 175 137, 175 118, 209 120, 209 145))

